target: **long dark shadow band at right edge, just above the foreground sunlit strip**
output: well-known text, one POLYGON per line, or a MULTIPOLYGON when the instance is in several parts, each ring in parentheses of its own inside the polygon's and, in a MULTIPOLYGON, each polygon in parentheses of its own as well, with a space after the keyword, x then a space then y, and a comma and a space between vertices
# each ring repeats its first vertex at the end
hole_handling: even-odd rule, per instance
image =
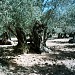
POLYGON ((56 60, 64 60, 64 59, 75 59, 75 51, 60 51, 59 54, 49 54, 48 57, 52 57, 56 60))

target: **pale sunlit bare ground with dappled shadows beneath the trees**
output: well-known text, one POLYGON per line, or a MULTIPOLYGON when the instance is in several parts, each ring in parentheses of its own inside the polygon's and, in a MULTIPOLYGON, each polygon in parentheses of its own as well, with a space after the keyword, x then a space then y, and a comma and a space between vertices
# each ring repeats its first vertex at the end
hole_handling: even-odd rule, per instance
POLYGON ((75 44, 69 38, 49 39, 41 54, 14 55, 13 45, 0 45, 0 75, 75 75, 75 44))

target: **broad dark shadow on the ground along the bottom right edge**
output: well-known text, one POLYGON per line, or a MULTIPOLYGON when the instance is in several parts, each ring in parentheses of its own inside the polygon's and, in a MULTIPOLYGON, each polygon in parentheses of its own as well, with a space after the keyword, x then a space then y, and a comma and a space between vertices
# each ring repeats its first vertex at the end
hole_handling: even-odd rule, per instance
POLYGON ((68 69, 65 65, 48 65, 45 64, 45 66, 38 66, 35 65, 32 67, 33 70, 35 70, 36 74, 40 75, 74 75, 74 71, 72 72, 70 69, 68 69))

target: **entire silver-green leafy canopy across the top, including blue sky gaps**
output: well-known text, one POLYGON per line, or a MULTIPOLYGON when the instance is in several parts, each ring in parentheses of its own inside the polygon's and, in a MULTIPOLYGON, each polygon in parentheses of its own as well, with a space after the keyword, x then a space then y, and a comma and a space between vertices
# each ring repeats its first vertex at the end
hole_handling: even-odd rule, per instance
POLYGON ((1 0, 0 33, 7 26, 21 26, 28 32, 35 20, 46 23, 48 29, 74 26, 74 0, 1 0))

